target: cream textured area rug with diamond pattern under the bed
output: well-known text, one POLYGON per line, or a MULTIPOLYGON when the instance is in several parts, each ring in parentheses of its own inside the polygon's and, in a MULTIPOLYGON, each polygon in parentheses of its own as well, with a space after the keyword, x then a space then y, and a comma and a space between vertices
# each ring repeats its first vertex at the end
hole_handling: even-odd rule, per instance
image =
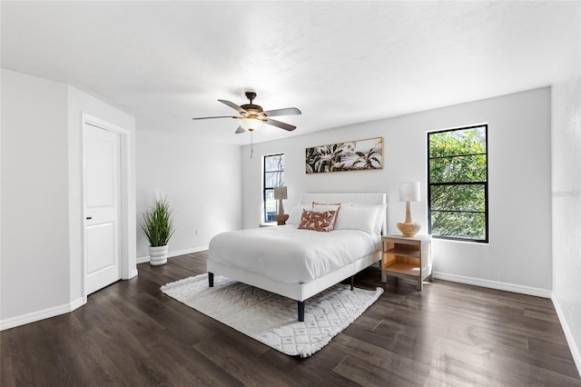
POLYGON ((297 302, 278 294, 214 275, 196 275, 162 286, 162 292, 288 355, 308 357, 353 323, 379 298, 375 291, 336 284, 305 302, 305 321, 297 302))

